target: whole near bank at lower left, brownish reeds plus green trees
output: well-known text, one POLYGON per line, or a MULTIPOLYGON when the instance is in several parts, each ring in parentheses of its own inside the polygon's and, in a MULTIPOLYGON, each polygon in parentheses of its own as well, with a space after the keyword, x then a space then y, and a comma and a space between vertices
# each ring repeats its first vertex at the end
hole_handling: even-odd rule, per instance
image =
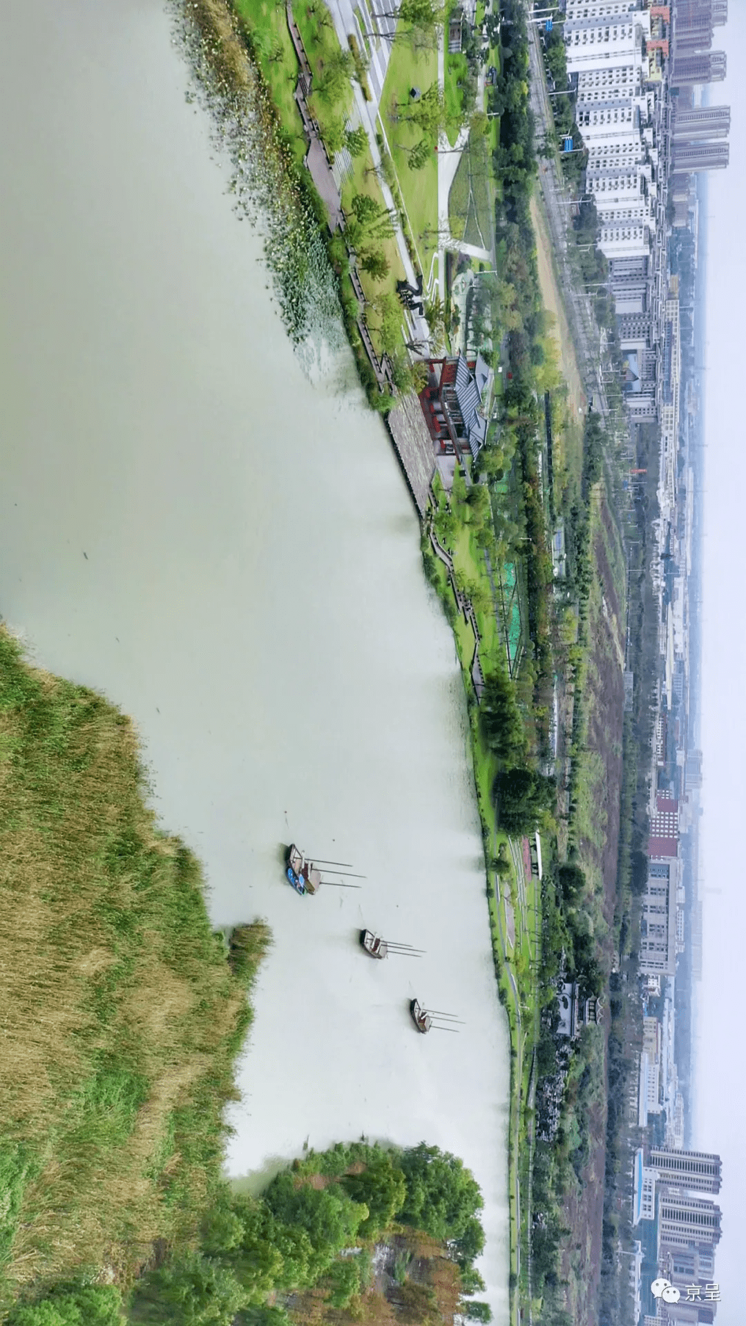
POLYGON ((131 721, 0 625, 0 1319, 488 1322, 482 1195, 421 1143, 222 1175, 265 923, 211 928, 131 721))

